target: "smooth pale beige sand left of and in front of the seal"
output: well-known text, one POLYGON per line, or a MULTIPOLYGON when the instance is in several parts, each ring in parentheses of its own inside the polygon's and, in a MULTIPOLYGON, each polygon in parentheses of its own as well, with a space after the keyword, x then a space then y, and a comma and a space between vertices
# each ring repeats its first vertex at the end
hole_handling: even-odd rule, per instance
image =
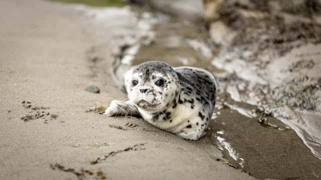
POLYGON ((102 27, 73 6, 39 0, 0 1, 0 23, 0 179, 253 179, 216 161, 221 152, 210 138, 184 140, 141 119, 85 112, 96 101, 125 98, 88 60, 98 54, 108 72, 119 24, 102 27), (91 84, 101 92, 84 91, 91 84), (21 117, 37 110, 23 100, 50 108, 26 122, 21 117))

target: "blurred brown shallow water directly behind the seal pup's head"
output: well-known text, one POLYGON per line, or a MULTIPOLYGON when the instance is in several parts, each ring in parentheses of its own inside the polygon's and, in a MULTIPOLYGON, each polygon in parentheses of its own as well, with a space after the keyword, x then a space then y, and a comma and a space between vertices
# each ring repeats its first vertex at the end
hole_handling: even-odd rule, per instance
POLYGON ((155 24, 153 29, 156 29, 153 42, 141 46, 133 64, 148 60, 162 60, 173 66, 209 64, 213 54, 207 44, 206 31, 195 28, 190 22, 181 24, 171 19, 155 24))

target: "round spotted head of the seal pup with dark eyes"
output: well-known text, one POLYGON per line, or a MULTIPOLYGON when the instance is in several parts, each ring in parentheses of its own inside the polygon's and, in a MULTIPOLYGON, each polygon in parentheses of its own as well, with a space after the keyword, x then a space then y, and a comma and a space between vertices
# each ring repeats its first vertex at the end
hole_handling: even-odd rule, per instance
POLYGON ((125 75, 128 98, 147 112, 164 111, 176 103, 180 81, 176 71, 162 61, 147 61, 125 75))

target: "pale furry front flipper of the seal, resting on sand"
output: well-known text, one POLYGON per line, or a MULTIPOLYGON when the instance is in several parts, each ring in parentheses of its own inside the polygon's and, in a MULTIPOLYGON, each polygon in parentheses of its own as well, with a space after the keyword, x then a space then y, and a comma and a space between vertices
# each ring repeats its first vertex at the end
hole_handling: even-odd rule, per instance
POLYGON ((109 107, 107 107, 105 110, 104 114, 108 116, 137 116, 139 115, 139 111, 136 106, 130 103, 130 101, 113 100, 111 101, 109 107))

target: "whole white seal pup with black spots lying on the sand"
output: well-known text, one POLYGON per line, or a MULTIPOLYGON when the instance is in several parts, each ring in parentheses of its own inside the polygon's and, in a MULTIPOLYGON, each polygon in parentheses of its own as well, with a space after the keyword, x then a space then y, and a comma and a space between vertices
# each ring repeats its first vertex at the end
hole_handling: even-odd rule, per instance
POLYGON ((216 102, 214 76, 201 68, 147 61, 123 77, 129 100, 112 100, 104 114, 141 116, 185 139, 206 134, 216 102))

